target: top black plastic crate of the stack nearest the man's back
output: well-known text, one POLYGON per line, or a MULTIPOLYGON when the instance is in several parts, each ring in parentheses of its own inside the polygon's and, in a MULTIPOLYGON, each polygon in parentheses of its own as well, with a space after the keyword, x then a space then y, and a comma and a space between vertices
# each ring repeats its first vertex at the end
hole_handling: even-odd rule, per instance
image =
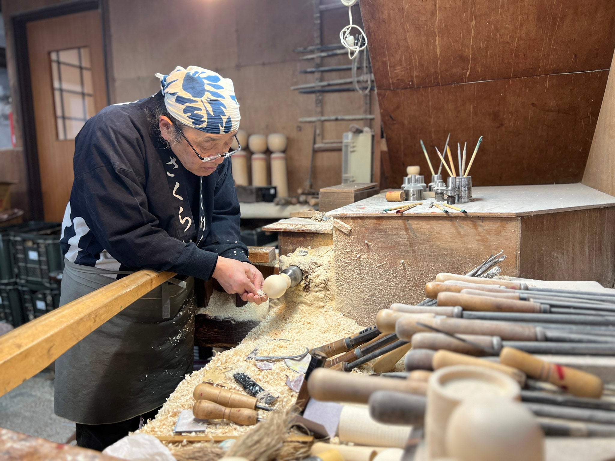
POLYGON ((60 250, 60 223, 46 223, 46 228, 30 232, 11 232, 18 283, 38 283, 57 288, 49 273, 64 269, 60 250))

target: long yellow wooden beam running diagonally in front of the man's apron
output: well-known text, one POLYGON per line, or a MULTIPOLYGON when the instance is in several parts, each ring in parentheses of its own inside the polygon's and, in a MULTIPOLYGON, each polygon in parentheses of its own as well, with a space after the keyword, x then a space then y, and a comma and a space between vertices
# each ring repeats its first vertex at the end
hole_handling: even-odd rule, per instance
POLYGON ((0 336, 0 395, 173 276, 172 272, 140 270, 0 336))

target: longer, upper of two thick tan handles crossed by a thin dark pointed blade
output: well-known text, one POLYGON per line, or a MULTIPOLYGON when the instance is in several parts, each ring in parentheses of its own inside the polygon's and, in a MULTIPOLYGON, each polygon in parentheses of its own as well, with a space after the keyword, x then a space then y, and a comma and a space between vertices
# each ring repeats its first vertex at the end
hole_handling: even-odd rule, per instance
POLYGON ((417 322, 435 326, 446 333, 499 336, 504 341, 537 341, 539 339, 536 336, 536 327, 532 325, 465 318, 400 318, 395 326, 395 334, 403 341, 412 341, 412 335, 419 331, 433 331, 416 325, 417 322))

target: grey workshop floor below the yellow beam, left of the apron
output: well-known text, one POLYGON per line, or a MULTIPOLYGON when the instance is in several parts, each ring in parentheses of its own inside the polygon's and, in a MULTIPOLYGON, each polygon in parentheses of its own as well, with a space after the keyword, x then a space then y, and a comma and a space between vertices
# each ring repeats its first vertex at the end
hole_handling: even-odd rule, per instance
POLYGON ((0 427, 57 443, 73 436, 74 423, 54 414, 53 371, 44 370, 0 397, 0 427))

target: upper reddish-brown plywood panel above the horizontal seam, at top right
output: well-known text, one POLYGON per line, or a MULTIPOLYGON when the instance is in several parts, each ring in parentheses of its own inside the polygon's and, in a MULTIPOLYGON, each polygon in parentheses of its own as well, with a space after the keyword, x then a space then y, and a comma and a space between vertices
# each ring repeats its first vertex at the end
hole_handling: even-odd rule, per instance
POLYGON ((381 90, 608 69, 615 2, 361 2, 381 90))

